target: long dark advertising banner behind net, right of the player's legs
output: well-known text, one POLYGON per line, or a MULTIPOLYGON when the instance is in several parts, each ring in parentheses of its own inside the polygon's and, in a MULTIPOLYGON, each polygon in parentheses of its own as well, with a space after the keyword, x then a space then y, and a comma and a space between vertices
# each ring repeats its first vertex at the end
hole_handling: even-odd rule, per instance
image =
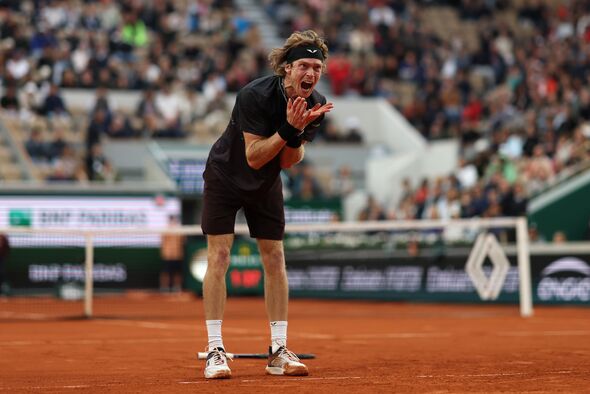
MULTIPOLYGON (((321 254, 321 253, 320 253, 321 254)), ((293 297, 324 297, 434 302, 481 301, 465 272, 467 255, 439 257, 299 259, 287 265, 293 297)), ((518 302, 518 268, 514 256, 495 302, 518 302)), ((491 266, 484 266, 489 276, 491 266)), ((531 256, 535 304, 590 306, 590 254, 531 256)))

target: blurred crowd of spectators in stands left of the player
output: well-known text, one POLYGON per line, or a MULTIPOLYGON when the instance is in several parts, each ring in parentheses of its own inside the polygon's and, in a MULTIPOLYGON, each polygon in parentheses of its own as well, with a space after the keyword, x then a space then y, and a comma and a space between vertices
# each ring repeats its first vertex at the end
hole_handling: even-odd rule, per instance
POLYGON ((228 118, 225 93, 265 67, 256 26, 231 0, 0 2, 0 106, 19 119, 32 161, 50 181, 116 179, 95 153, 104 137, 218 133, 228 118), (96 100, 68 108, 63 88, 95 90, 96 100), (135 112, 109 103, 119 89, 142 92, 135 112), (82 143, 64 143, 62 129, 78 129, 82 143), (72 158, 75 169, 63 165, 72 158))

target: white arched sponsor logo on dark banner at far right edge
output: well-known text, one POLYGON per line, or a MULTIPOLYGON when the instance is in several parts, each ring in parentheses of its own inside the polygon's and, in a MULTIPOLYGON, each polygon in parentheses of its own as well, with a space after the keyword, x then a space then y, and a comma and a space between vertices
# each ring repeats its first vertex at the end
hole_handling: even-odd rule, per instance
POLYGON ((564 257, 541 272, 537 296, 542 301, 590 301, 590 265, 564 257))

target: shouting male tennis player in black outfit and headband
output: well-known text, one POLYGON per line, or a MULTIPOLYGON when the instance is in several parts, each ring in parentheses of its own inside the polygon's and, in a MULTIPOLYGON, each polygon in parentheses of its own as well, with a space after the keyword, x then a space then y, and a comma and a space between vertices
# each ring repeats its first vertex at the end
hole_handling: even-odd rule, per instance
POLYGON ((209 153, 203 175, 201 227, 207 234, 207 273, 203 301, 209 345, 208 379, 229 378, 221 336, 236 213, 244 209, 264 267, 264 295, 271 346, 266 373, 307 375, 307 366, 287 349, 289 287, 283 235, 285 214, 280 171, 303 159, 333 108, 314 90, 325 69, 328 47, 313 31, 295 32, 269 55, 275 75, 250 82, 237 95, 231 119, 209 153))

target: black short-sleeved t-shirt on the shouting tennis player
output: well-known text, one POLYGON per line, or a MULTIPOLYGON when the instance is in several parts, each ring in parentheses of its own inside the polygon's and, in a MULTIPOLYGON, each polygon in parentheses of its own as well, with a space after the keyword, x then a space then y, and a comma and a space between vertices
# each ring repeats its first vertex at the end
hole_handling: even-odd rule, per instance
MULTIPOLYGON (((215 174, 228 186, 240 192, 264 192, 280 182, 280 154, 255 170, 246 161, 243 132, 263 137, 272 136, 287 121, 287 100, 281 89, 281 77, 262 77, 244 86, 236 97, 231 119, 225 132, 213 144, 207 160, 207 170, 215 174)), ((307 99, 307 108, 316 103, 325 104, 326 98, 313 91, 307 99)), ((307 139, 313 139, 313 128, 319 122, 305 129, 307 139)))

